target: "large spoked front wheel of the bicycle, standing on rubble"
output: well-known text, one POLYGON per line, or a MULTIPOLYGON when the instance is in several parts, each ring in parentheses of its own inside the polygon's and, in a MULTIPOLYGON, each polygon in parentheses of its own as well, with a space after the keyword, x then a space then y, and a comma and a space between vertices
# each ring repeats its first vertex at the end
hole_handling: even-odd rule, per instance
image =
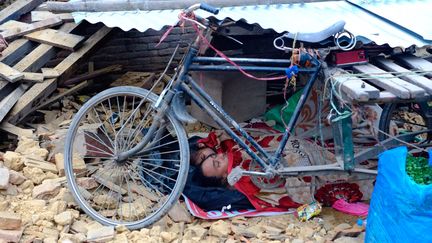
POLYGON ((65 174, 81 209, 105 225, 149 226, 178 200, 186 182, 189 147, 170 112, 139 153, 120 160, 154 121, 157 96, 136 87, 105 90, 75 115, 65 142, 65 174))

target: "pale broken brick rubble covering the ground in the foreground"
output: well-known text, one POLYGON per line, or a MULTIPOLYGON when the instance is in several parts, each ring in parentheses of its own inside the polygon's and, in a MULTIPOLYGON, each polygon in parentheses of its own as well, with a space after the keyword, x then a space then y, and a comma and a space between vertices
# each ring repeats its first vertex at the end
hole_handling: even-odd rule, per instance
POLYGON ((22 137, 15 151, 1 153, 0 242, 363 241, 357 219, 332 209, 306 223, 293 215, 204 221, 177 204, 150 228, 102 226, 80 211, 61 176, 62 156, 47 144, 22 137))

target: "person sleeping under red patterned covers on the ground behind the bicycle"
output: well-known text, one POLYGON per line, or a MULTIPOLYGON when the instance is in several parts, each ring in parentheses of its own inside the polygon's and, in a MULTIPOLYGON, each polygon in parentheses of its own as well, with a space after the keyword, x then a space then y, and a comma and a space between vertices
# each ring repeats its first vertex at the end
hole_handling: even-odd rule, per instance
MULTIPOLYGON (((265 149, 276 150, 281 135, 254 137, 265 149)), ((278 180, 274 189, 261 189, 248 176, 234 186, 227 183, 232 169, 241 166, 248 170, 252 159, 223 131, 209 133, 206 138, 192 137, 190 170, 184 195, 205 210, 221 210, 228 205, 232 210, 288 210, 313 200, 310 177, 278 180)), ((334 163, 334 155, 307 140, 292 137, 283 152, 285 166, 308 166, 334 163)))

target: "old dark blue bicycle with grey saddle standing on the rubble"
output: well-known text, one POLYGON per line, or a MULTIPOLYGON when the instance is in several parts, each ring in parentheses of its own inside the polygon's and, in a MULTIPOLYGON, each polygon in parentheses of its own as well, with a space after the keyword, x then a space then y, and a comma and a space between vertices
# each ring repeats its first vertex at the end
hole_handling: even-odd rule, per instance
MULTIPOLYGON (((182 17, 211 31, 207 19, 193 14, 198 8, 213 14, 218 12, 207 4, 196 4, 185 9, 182 17)), ((341 30, 343 25, 336 24, 318 34, 331 36, 341 30)), ((185 95, 205 110, 262 168, 262 171, 233 171, 228 177, 230 184, 242 176, 271 179, 329 172, 376 174, 375 170, 356 168, 353 158, 339 158, 338 163, 330 165, 280 168, 283 148, 306 97, 322 75, 323 63, 313 55, 305 54, 301 58, 307 58, 310 66, 292 70, 307 74, 309 78, 279 147, 270 153, 224 112, 188 72, 241 68, 242 72, 285 73, 292 61, 231 58, 232 62, 252 66, 212 65, 223 64, 227 59, 198 56, 198 43, 206 34, 198 31, 198 37, 159 96, 152 89, 110 88, 92 97, 75 115, 66 137, 65 174, 69 189, 84 212, 106 225, 123 224, 137 229, 155 223, 171 209, 181 195, 189 167, 188 140, 182 123, 193 122, 194 118, 186 111, 185 95), (253 152, 240 137, 245 138, 257 152, 253 152), (82 169, 83 164, 85 169, 82 169), (85 180, 93 183, 84 183, 85 180)), ((297 37, 311 38, 307 35, 297 37)), ((341 126, 340 129, 345 128, 341 126)))

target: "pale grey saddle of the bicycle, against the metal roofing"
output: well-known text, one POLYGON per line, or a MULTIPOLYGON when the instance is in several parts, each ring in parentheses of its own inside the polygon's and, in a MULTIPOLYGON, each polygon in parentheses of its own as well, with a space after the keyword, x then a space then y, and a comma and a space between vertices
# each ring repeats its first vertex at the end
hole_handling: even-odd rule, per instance
POLYGON ((345 21, 339 20, 331 26, 315 33, 286 33, 284 36, 290 39, 296 39, 297 41, 305 41, 310 43, 316 43, 323 41, 330 36, 333 36, 344 30, 345 21))

